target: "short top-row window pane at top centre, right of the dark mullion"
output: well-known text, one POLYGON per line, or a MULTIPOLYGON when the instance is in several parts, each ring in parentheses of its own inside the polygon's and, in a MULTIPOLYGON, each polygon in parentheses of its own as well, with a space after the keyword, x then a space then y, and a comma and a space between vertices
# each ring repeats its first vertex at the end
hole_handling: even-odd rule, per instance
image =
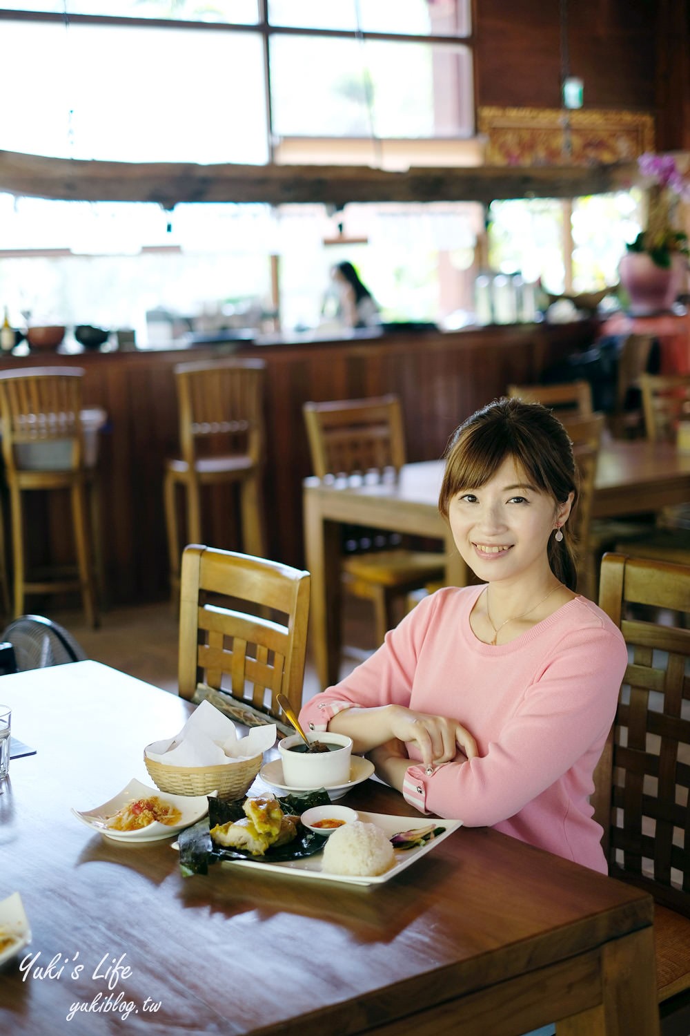
POLYGON ((468 35, 469 0, 269 0, 272 25, 350 32, 468 35), (357 24, 359 7, 360 24, 357 24))

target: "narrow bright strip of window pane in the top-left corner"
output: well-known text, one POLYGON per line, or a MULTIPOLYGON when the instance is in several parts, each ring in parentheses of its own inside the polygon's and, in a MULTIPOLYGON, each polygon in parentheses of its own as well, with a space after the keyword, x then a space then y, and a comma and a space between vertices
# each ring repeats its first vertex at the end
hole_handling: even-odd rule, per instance
POLYGON ((8 10, 36 10, 54 15, 112 15, 118 18, 167 18, 187 22, 234 22, 256 25, 257 0, 17 0, 2 3, 8 10))

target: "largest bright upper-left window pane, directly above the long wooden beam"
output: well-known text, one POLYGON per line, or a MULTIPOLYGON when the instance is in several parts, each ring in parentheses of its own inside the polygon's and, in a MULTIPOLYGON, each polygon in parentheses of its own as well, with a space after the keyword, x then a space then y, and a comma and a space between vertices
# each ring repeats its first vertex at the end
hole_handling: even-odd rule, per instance
POLYGON ((0 108, 8 151, 268 161, 258 35, 36 22, 4 23, 2 32, 4 79, 21 84, 0 108), (40 75, 27 75, 28 54, 40 75))

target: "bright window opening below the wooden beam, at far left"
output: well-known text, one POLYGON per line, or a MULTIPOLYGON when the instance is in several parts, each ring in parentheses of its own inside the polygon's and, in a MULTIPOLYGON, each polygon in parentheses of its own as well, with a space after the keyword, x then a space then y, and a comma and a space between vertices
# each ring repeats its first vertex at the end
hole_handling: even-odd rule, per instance
POLYGON ((14 326, 133 327, 143 345, 148 311, 179 317, 182 329, 211 330, 258 322, 268 305, 267 205, 183 204, 167 213, 149 203, 0 194, 0 298, 14 326), (22 255, 28 249, 43 255, 22 255))

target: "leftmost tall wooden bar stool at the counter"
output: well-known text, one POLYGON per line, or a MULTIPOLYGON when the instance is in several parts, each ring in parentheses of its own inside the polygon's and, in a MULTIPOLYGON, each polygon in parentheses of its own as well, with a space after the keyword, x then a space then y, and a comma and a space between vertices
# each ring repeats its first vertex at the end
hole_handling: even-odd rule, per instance
POLYGON ((71 367, 3 371, 0 414, 11 512, 14 614, 23 614, 27 594, 78 589, 87 621, 95 627, 98 625, 94 563, 94 543, 98 540, 97 486, 95 456, 85 454, 83 378, 84 371, 71 367), (23 494, 35 490, 69 493, 76 577, 71 567, 66 573, 55 567, 50 579, 27 578, 23 494))

